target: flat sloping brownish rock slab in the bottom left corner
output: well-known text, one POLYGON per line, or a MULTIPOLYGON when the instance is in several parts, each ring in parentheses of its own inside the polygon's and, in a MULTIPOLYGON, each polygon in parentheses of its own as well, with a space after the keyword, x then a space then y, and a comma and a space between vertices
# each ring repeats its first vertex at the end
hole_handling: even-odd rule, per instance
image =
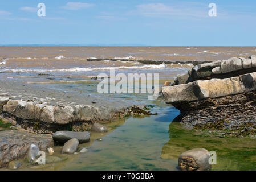
POLYGON ((31 144, 36 144, 40 150, 46 151, 48 147, 54 145, 54 142, 51 135, 32 134, 18 130, 0 131, 0 167, 12 160, 25 158, 31 144))

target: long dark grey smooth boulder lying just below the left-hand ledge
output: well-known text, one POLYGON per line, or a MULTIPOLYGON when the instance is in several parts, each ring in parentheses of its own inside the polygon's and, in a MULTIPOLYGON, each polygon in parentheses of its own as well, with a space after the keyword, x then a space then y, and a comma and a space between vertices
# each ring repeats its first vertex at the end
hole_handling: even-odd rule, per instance
POLYGON ((90 133, 74 132, 74 131, 57 131, 52 135, 52 138, 56 142, 65 143, 72 138, 78 139, 79 143, 86 143, 90 141, 90 133))

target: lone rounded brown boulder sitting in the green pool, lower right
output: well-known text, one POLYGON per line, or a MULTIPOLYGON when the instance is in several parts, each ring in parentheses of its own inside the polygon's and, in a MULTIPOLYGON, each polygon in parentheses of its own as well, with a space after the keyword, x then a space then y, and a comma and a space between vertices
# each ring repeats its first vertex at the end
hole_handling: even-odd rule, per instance
POLYGON ((181 171, 208 171, 210 154, 204 148, 194 148, 183 152, 178 158, 178 168, 181 171))

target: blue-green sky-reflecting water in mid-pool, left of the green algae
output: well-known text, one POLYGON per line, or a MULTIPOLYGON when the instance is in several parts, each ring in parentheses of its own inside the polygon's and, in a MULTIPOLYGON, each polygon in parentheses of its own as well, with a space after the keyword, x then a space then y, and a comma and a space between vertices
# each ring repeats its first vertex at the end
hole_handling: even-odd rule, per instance
POLYGON ((177 160, 162 159, 169 139, 169 122, 178 114, 173 107, 157 108, 147 118, 129 118, 85 154, 66 163, 63 170, 176 170, 177 160), (168 113, 168 117, 162 117, 168 113), (163 118, 161 121, 157 118, 163 118), (169 122, 168 122, 169 121, 169 122))

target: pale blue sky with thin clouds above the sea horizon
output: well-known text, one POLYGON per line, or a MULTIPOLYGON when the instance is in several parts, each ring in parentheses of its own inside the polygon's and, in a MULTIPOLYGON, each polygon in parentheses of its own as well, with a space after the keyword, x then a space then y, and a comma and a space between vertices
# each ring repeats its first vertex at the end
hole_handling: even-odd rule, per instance
POLYGON ((9 0, 0 2, 0 44, 256 46, 255 22, 254 0, 9 0))

